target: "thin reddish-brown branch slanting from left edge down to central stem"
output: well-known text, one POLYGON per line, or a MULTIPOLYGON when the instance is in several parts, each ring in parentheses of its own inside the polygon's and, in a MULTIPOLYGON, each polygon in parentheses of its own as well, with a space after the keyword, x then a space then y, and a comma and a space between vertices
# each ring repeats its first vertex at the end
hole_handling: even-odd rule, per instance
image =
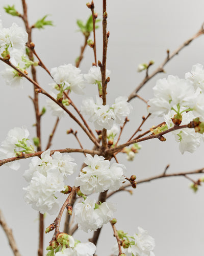
POLYGON ((43 90, 39 84, 37 82, 35 82, 32 78, 30 78, 28 75, 24 74, 21 70, 19 70, 18 68, 16 68, 9 60, 5 60, 2 57, 0 57, 0 60, 2 60, 3 62, 5 62, 7 65, 9 65, 10 67, 12 67, 13 69, 15 69, 19 74, 21 74, 23 77, 27 78, 31 83, 33 83, 38 89, 36 89, 35 91, 37 93, 42 93, 44 95, 46 95, 48 98, 52 99, 53 101, 55 101, 55 103, 57 103, 75 122, 77 122, 80 127, 82 128, 82 130, 87 134, 87 136, 92 140, 92 142, 94 144, 98 144, 97 140, 95 138, 92 137, 92 135, 89 133, 89 131, 86 130, 85 126, 58 100, 56 100, 55 98, 53 98, 50 94, 48 94, 45 90, 43 90))

